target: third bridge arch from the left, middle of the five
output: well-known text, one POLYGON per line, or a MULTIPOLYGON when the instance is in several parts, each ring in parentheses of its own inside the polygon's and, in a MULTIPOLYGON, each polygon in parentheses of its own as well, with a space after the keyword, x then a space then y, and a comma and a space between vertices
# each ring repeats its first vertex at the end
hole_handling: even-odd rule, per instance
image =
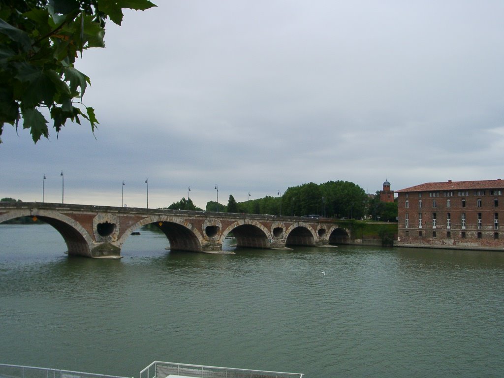
POLYGON ((222 244, 226 236, 233 232, 236 239, 236 246, 245 248, 271 248, 271 233, 261 223, 254 219, 243 219, 229 225, 220 237, 222 244))

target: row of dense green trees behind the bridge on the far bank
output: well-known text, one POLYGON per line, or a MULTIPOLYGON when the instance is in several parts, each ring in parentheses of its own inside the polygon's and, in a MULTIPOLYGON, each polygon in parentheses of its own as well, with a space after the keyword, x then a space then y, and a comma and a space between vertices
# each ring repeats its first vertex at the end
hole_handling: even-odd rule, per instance
MULTIPOLYGON (((189 199, 182 198, 168 209, 202 210, 189 199)), ((380 192, 370 198, 364 190, 350 181, 328 181, 323 184, 313 182, 289 187, 282 196, 236 202, 229 196, 227 206, 209 201, 206 211, 221 213, 269 214, 269 215, 316 215, 326 218, 362 219, 395 221, 396 203, 380 202, 380 192)))

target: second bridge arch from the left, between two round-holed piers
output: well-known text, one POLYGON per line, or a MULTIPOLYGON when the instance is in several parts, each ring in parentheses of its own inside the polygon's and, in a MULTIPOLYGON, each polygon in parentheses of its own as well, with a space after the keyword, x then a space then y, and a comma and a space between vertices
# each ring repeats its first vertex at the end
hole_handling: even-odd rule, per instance
POLYGON ((156 224, 163 231, 170 242, 170 249, 192 252, 203 250, 204 238, 191 223, 179 217, 159 215, 146 217, 125 230, 117 240, 117 246, 120 247, 133 231, 150 223, 156 224))

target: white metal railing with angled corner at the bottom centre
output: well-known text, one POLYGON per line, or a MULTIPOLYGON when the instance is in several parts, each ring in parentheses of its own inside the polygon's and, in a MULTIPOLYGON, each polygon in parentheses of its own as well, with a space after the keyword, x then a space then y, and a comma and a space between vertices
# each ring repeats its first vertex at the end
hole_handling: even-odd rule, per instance
POLYGON ((140 378, 166 378, 170 374, 197 378, 302 378, 303 376, 300 373, 154 361, 140 372, 140 378))

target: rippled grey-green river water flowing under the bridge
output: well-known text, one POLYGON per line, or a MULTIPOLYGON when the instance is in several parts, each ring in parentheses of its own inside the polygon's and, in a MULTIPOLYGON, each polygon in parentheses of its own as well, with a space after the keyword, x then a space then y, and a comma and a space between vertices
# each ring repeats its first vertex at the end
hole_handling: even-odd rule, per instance
POLYGON ((504 376, 504 253, 166 246, 142 230, 121 260, 68 257, 48 225, 0 225, 0 362, 137 377, 153 360, 504 376))

